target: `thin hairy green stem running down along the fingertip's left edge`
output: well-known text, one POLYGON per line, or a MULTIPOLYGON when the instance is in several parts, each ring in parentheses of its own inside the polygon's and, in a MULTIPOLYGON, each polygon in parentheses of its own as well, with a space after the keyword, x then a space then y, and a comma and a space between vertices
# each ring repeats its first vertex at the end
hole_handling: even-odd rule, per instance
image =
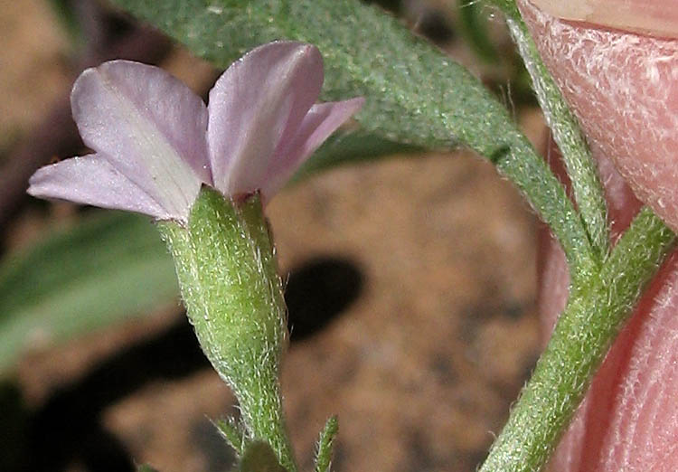
POLYGON ((609 251, 609 226, 607 203, 603 186, 598 177, 598 166, 591 156, 589 145, 581 134, 579 122, 560 93, 560 89, 546 69, 532 36, 523 19, 508 17, 506 20, 523 56, 537 99, 551 127, 553 139, 560 148, 581 218, 586 225, 592 247, 599 260, 604 260, 609 251))

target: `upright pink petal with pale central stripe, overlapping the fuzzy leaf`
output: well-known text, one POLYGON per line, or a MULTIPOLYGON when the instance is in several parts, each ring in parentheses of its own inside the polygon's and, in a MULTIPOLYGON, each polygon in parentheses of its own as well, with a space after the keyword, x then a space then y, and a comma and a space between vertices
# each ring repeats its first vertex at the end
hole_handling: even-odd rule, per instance
POLYGON ((257 189, 278 143, 294 136, 323 84, 320 52, 271 42, 236 61, 210 92, 207 141, 214 186, 257 189))

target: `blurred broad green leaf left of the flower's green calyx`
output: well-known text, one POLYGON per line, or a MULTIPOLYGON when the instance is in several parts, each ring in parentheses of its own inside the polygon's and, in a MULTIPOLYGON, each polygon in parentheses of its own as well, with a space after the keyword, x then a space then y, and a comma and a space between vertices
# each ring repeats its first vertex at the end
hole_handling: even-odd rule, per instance
POLYGON ((99 213, 0 264, 0 372, 32 346, 145 315, 178 293, 149 219, 99 213))

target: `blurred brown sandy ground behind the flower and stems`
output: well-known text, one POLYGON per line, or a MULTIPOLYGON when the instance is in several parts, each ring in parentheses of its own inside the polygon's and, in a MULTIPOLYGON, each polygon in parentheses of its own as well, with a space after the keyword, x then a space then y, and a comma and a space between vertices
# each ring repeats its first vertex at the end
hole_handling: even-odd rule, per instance
MULTIPOLYGON (((67 38, 41 0, 0 1, 0 44, 6 151, 68 93, 71 76, 67 38)), ((164 65, 196 90, 213 79, 178 48, 164 65)), ((539 113, 520 119, 539 141, 539 113)), ((336 413, 335 472, 474 470, 537 354, 536 222, 511 184, 466 152, 394 157, 315 176, 280 194, 268 215, 282 274, 332 257, 363 280, 357 300, 287 355, 283 386, 303 469, 336 413)), ((7 241, 43 227, 34 219, 20 215, 7 241)), ((162 332, 175 311, 24 359, 28 401, 39 407, 56 388, 162 332)), ((109 405, 102 421, 137 463, 217 471, 230 455, 208 418, 224 411, 232 411, 228 389, 202 369, 146 384, 109 405)), ((86 470, 77 461, 69 468, 86 470)))

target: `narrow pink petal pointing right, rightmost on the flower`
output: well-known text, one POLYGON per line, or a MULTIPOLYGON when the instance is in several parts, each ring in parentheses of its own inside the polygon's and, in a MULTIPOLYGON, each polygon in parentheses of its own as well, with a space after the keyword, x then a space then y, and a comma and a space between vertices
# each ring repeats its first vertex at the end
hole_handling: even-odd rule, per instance
MULTIPOLYGON (((297 135, 283 140, 271 159, 268 177, 261 185, 264 200, 268 201, 297 171, 308 157, 342 126, 348 118, 363 107, 362 97, 344 101, 318 103, 311 107, 297 129, 297 135)), ((250 189, 239 189, 250 191, 250 189)))

